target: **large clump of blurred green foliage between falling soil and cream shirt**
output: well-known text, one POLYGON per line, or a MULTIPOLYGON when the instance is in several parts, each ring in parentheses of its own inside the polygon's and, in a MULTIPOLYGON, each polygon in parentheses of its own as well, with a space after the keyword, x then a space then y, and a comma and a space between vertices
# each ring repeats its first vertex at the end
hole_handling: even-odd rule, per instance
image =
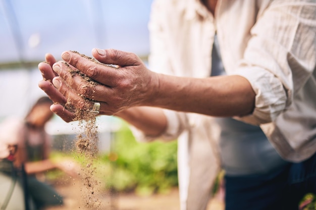
POLYGON ((177 141, 139 143, 125 128, 116 134, 113 151, 103 160, 112 160, 107 185, 116 191, 151 194, 178 185, 177 141))

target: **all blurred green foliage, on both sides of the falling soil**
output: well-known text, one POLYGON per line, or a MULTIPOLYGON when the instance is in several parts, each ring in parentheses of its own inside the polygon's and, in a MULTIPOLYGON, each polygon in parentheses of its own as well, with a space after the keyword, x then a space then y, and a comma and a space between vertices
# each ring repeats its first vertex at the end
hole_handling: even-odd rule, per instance
MULTIPOLYGON (((137 142, 127 126, 114 135, 110 153, 96 155, 93 174, 105 189, 117 192, 135 191, 141 195, 168 192, 178 186, 177 141, 137 142)), ((51 159, 58 162, 71 158, 83 168, 91 160, 76 151, 54 151, 51 159)), ((51 180, 62 177, 49 174, 51 180)))

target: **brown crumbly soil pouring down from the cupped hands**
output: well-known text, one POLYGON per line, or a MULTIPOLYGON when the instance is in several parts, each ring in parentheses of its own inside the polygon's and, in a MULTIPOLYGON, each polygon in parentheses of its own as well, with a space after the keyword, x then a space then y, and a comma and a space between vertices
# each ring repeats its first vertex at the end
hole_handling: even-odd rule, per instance
MULTIPOLYGON (((76 51, 73 52, 77 53, 76 51)), ((85 55, 81 56, 83 58, 98 63, 96 60, 89 58, 85 55)), ((93 86, 99 84, 98 82, 92 80, 82 72, 72 69, 72 67, 68 63, 64 64, 69 67, 69 72, 72 75, 72 77, 80 76, 82 79, 86 81, 87 88, 93 89, 93 86)), ((86 105, 84 109, 75 109, 72 106, 72 101, 70 101, 70 99, 68 99, 65 106, 68 110, 75 113, 74 120, 79 121, 80 133, 77 134, 76 138, 76 150, 78 152, 78 155, 84 155, 84 160, 86 160, 86 162, 83 163, 81 172, 79 174, 84 186, 81 189, 82 202, 84 206, 88 209, 100 209, 101 202, 99 201, 99 182, 94 178, 95 167, 93 167, 94 157, 98 153, 98 135, 97 126, 95 124, 96 119, 95 115, 90 112, 90 110, 92 110, 94 100, 85 98, 83 95, 79 96, 82 97, 82 99, 85 101, 86 105)))

